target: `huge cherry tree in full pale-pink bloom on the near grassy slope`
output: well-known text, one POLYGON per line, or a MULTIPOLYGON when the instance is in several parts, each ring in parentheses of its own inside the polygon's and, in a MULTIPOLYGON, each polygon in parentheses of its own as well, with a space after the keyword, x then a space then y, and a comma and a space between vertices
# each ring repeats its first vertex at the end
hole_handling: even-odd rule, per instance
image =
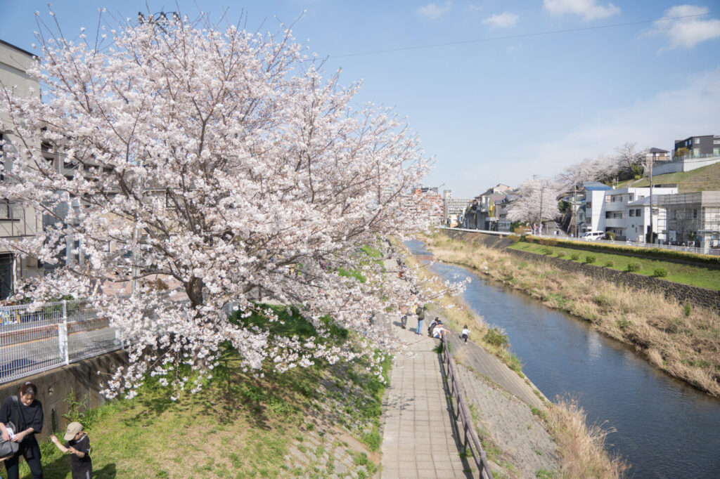
POLYGON ((42 27, 30 74, 44 101, 2 90, 19 141, 0 193, 51 220, 6 246, 56 266, 24 294, 93 298, 130 345, 129 367, 109 383, 129 396, 148 373, 193 389, 181 366, 207 377, 224 343, 255 370, 356 354, 249 324, 253 312, 277 320, 251 301, 256 291, 300 307, 318 337, 324 316, 358 332, 359 354, 396 348, 369 318, 423 301, 426 289, 412 272, 389 280, 361 247, 426 227, 404 196, 428 171, 415 134, 391 109, 354 107, 359 85, 323 78, 284 27, 119 23, 101 27, 99 42, 42 27), (40 142, 74 173, 49 165, 40 142), (68 243, 84 261, 61 257, 68 243), (348 270, 358 274, 338 273, 348 270), (132 296, 104 292, 128 271, 132 296))

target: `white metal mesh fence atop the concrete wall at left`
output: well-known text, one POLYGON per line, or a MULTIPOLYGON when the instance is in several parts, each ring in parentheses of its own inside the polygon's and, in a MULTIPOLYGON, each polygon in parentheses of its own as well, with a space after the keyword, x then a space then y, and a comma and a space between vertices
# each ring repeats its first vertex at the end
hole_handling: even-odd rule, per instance
POLYGON ((88 301, 0 307, 0 383, 122 347, 88 301))

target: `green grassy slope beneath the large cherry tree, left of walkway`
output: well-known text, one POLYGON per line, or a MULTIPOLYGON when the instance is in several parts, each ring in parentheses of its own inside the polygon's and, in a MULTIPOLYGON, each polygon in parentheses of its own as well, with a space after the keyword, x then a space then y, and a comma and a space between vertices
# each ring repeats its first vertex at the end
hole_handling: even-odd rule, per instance
MULTIPOLYGON (((283 327, 312 331, 273 308, 283 327)), ((341 470, 369 478, 379 467, 384 385, 368 365, 318 361, 275 373, 266 364, 254 375, 228 350, 201 393, 171 401, 148 380, 136 398, 78 408, 72 419, 86 426, 95 478, 320 478, 341 470)), ((49 443, 42 452, 45 478, 71 477, 69 457, 49 443)))

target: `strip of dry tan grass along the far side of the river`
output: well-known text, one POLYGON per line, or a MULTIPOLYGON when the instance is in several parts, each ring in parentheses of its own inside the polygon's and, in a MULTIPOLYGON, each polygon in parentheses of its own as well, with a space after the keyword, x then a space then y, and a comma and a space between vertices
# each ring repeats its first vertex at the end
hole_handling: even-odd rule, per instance
POLYGON ((671 301, 544 263, 522 261, 500 250, 450 239, 426 238, 438 260, 487 274, 554 309, 595 325, 634 345, 654 365, 676 378, 720 396, 720 318, 714 311, 671 301))

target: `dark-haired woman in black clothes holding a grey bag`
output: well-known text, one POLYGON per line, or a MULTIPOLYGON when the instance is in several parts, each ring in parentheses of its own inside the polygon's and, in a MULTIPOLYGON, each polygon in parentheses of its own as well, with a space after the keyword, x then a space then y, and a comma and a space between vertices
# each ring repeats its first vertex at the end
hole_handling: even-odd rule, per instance
POLYGON ((0 432, 6 441, 11 439, 5 426, 9 421, 15 424, 17 431, 13 431, 12 440, 19 442, 17 454, 5 460, 5 469, 8 479, 18 479, 17 463, 20 455, 25 458, 33 479, 42 479, 42 465, 40 464, 40 446, 35 439, 35 433, 42 431, 45 416, 42 414, 42 404, 35 399, 37 386, 24 383, 18 396, 10 396, 0 406, 0 432))

